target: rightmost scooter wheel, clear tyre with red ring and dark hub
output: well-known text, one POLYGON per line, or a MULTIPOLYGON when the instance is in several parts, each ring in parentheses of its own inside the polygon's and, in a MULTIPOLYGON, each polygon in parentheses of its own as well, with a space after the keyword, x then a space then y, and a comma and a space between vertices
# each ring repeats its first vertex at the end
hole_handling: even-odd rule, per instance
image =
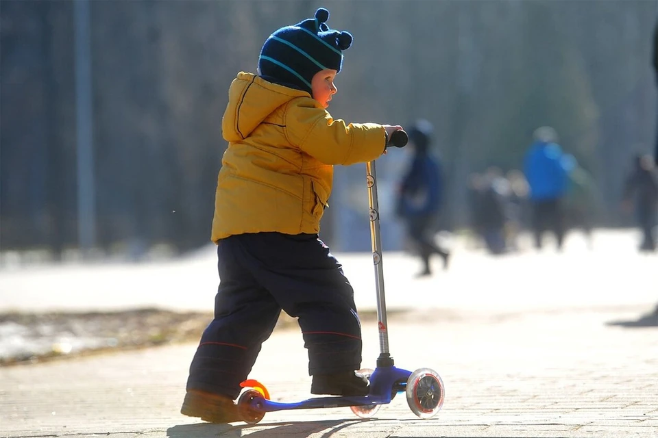
POLYGON ((411 411, 421 418, 429 418, 439 412, 445 394, 441 377, 430 368, 415 370, 406 383, 406 402, 411 411))

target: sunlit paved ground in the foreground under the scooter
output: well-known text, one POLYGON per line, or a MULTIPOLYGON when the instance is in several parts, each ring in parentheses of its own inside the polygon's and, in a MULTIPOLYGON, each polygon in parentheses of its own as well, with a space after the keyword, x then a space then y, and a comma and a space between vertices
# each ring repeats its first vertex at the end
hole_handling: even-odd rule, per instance
MULTIPOLYGON (((0 368, 0 436, 656 437, 658 328, 608 325, 638 311, 393 318, 396 365, 434 368, 446 385, 430 420, 398 394, 370 421, 343 408, 267 413, 256 426, 199 424, 178 413, 195 349, 186 344, 0 368)), ((372 366, 376 326, 363 330, 363 365, 372 366)), ((275 400, 310 397, 300 334, 275 333, 252 376, 275 400)))

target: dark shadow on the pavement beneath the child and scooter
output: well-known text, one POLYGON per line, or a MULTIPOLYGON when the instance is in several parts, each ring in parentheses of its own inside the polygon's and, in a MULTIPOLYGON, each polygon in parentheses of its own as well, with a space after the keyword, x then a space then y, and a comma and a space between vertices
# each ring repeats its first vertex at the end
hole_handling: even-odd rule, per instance
POLYGON ((342 428, 352 426, 356 423, 366 422, 369 420, 326 420, 315 422, 283 422, 283 423, 259 423, 258 425, 251 426, 249 424, 241 424, 239 426, 231 426, 230 424, 211 424, 211 423, 198 423, 198 424, 180 424, 167 429, 167 437, 169 438, 217 438, 217 437, 243 437, 242 431, 249 428, 258 427, 263 430, 256 430, 255 432, 247 434, 250 438, 265 438, 265 437, 308 437, 312 433, 319 433, 326 430, 321 438, 329 438, 331 435, 341 430, 342 428), (269 427, 268 427, 269 426, 269 427))

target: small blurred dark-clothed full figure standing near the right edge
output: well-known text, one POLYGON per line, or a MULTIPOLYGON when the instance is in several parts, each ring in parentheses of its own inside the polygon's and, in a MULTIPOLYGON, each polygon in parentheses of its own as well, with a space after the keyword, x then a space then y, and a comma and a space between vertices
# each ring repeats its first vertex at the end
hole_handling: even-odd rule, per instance
POLYGON ((658 214, 658 179, 650 155, 637 155, 624 185, 624 211, 635 207, 635 220, 642 231, 640 251, 654 251, 656 237, 653 228, 658 214))

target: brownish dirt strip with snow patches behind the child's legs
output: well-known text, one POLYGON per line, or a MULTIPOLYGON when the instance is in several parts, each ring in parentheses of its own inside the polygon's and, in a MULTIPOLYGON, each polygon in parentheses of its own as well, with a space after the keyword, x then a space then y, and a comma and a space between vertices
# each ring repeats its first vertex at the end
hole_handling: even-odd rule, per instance
MULTIPOLYGON (((363 322, 377 319, 360 313, 363 322)), ((90 313, 0 314, 0 366, 72 359, 100 352, 197 342, 212 313, 137 309, 90 313)), ((281 313, 276 329, 297 329, 281 313)))

